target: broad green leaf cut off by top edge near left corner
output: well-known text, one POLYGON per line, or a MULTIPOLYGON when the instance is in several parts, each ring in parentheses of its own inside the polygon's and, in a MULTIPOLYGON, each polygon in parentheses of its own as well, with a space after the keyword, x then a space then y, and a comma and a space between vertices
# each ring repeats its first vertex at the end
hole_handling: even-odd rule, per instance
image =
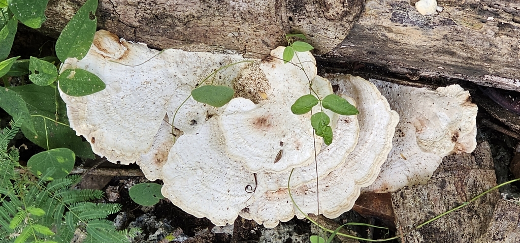
POLYGON ((33 29, 42 27, 48 2, 49 0, 7 0, 9 10, 16 18, 33 29))

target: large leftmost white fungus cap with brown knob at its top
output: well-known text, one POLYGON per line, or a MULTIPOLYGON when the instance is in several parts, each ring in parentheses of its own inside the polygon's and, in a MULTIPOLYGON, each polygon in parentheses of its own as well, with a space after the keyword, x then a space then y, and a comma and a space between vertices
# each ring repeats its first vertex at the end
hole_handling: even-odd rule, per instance
MULTIPOLYGON (((240 55, 173 49, 157 54, 159 51, 145 44, 119 40, 100 30, 85 58, 69 58, 63 63, 63 70, 82 68, 106 84, 105 89, 92 95, 72 97, 61 89, 60 95, 76 135, 85 137, 95 154, 110 162, 133 163, 149 152, 164 116, 178 107, 176 101, 180 99, 180 104, 192 87, 214 70, 244 60, 240 55), (191 88, 182 88, 186 86, 191 88)), ((230 85, 237 73, 224 71, 215 82, 230 85)), ((207 111, 203 106, 198 108, 200 113, 207 111)), ((174 125, 188 129, 191 120, 174 125)))

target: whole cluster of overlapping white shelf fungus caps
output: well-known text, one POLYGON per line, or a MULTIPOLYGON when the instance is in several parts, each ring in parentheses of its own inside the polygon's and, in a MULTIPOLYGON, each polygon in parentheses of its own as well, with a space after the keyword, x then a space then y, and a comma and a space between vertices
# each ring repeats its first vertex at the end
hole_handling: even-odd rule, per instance
POLYGON ((296 116, 290 106, 309 94, 309 81, 321 98, 333 93, 331 83, 316 75, 310 53, 298 53, 293 63, 283 63, 282 53, 279 47, 270 58, 218 71, 211 82, 233 87, 236 97, 215 108, 188 98, 190 92, 220 67, 245 60, 240 55, 173 49, 157 55, 99 31, 88 55, 67 60, 63 68, 93 72, 107 88, 61 97, 71 127, 96 154, 111 162, 136 161, 149 180, 163 180, 162 193, 176 206, 216 225, 233 223, 238 215, 266 227, 303 218, 288 188, 304 213, 335 218, 376 178, 369 189, 423 182, 443 156, 475 147, 476 106, 459 86, 414 91, 349 75, 327 78, 359 114, 325 109, 334 134, 327 146, 314 135, 310 113, 296 116), (387 99, 401 114, 399 125, 387 99), (383 165, 387 157, 390 163, 383 165), (422 174, 409 174, 416 171, 422 174))

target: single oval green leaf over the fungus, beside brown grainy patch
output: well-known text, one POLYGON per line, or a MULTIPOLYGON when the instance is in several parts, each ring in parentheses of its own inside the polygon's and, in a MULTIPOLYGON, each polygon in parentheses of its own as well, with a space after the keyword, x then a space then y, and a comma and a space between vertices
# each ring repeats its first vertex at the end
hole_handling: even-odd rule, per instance
POLYGON ((194 100, 214 107, 222 107, 233 98, 235 91, 221 85, 204 85, 191 91, 194 100))

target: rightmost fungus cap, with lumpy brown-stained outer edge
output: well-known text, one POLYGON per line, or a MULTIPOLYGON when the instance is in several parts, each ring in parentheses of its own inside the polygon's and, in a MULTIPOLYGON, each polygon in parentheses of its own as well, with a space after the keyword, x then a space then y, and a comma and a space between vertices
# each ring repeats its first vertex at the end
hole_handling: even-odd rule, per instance
POLYGON ((443 157, 476 147, 477 106, 459 85, 407 87, 379 80, 378 86, 401 117, 394 147, 381 173, 367 191, 385 193, 424 184, 443 157))

